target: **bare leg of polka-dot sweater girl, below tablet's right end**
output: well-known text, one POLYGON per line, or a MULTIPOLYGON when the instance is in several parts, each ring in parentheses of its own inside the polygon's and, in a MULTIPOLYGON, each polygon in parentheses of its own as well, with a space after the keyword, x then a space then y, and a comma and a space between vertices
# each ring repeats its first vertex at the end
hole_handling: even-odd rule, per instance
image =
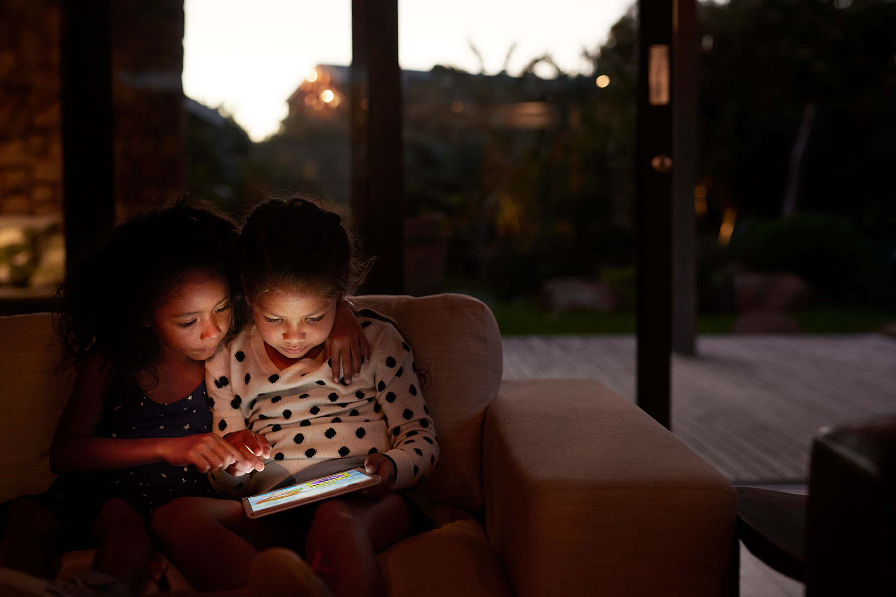
POLYGON ((331 499, 314 513, 305 542, 306 559, 337 597, 386 594, 376 554, 411 533, 400 494, 383 499, 331 499))

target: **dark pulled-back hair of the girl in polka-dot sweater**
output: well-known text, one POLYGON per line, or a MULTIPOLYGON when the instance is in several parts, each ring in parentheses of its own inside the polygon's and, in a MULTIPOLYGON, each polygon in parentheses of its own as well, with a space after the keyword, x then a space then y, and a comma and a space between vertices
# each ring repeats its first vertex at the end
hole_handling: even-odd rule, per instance
POLYGON ((256 207, 239 235, 237 262, 250 301, 283 287, 339 301, 357 291, 369 269, 349 222, 310 195, 256 207))

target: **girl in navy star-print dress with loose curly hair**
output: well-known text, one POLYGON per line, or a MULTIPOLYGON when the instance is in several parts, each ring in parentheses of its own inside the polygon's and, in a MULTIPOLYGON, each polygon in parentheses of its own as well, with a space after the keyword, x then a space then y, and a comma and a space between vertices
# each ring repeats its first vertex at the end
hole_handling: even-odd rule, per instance
MULTIPOLYGON (((117 227, 70 270, 60 332, 78 371, 50 450, 60 476, 47 492, 13 502, 0 565, 53 577, 60 550, 90 547, 92 538, 94 570, 138 593, 155 508, 213 497, 209 471, 263 469, 266 453, 211 433, 204 381, 203 361, 233 320, 236 228, 180 200, 117 227)), ((349 332, 356 353, 358 335, 360 328, 349 332)))

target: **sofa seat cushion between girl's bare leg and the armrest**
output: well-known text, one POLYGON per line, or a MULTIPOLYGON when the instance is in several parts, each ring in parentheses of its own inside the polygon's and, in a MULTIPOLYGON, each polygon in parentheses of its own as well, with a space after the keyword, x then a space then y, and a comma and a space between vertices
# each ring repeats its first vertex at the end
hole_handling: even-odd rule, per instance
POLYGON ((457 507, 435 506, 436 526, 379 554, 390 597, 510 597, 482 525, 457 507))

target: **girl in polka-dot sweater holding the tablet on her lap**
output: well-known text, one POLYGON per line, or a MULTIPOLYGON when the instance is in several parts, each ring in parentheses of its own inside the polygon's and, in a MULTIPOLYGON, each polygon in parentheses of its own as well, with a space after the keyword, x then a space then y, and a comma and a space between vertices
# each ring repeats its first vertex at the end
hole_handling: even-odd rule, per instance
POLYGON ((283 587, 266 583, 286 561, 313 594, 384 594, 375 553, 432 524, 409 489, 439 453, 409 345, 391 323, 362 311, 371 358, 354 388, 327 379, 321 343, 360 277, 337 214, 302 199, 268 201, 246 221, 237 255, 252 322, 207 363, 212 423, 234 446, 270 446, 271 459, 263 472, 216 479, 249 495, 319 476, 329 463, 331 471, 363 464, 381 481, 364 496, 255 520, 238 501, 179 499, 159 509, 153 529, 197 588, 236 588, 251 576, 256 593, 280 594, 283 587), (304 554, 323 585, 295 555, 269 551, 253 562, 272 545, 304 554))

